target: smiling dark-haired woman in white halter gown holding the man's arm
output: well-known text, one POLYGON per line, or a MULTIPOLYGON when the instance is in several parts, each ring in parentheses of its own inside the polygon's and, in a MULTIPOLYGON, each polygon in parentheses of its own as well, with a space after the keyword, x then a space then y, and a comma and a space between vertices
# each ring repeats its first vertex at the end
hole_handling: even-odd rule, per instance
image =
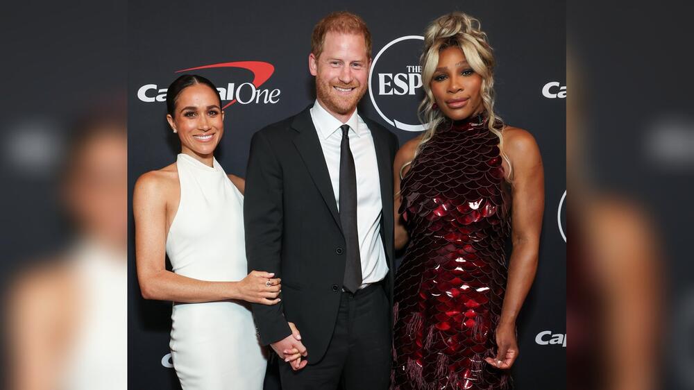
POLYGON ((142 175, 133 195, 142 296, 174 301, 169 347, 184 390, 262 389, 266 357, 248 303, 278 303, 280 279, 246 268, 244 179, 213 155, 223 134, 219 94, 201 76, 180 76, 167 111, 181 153, 142 175))

